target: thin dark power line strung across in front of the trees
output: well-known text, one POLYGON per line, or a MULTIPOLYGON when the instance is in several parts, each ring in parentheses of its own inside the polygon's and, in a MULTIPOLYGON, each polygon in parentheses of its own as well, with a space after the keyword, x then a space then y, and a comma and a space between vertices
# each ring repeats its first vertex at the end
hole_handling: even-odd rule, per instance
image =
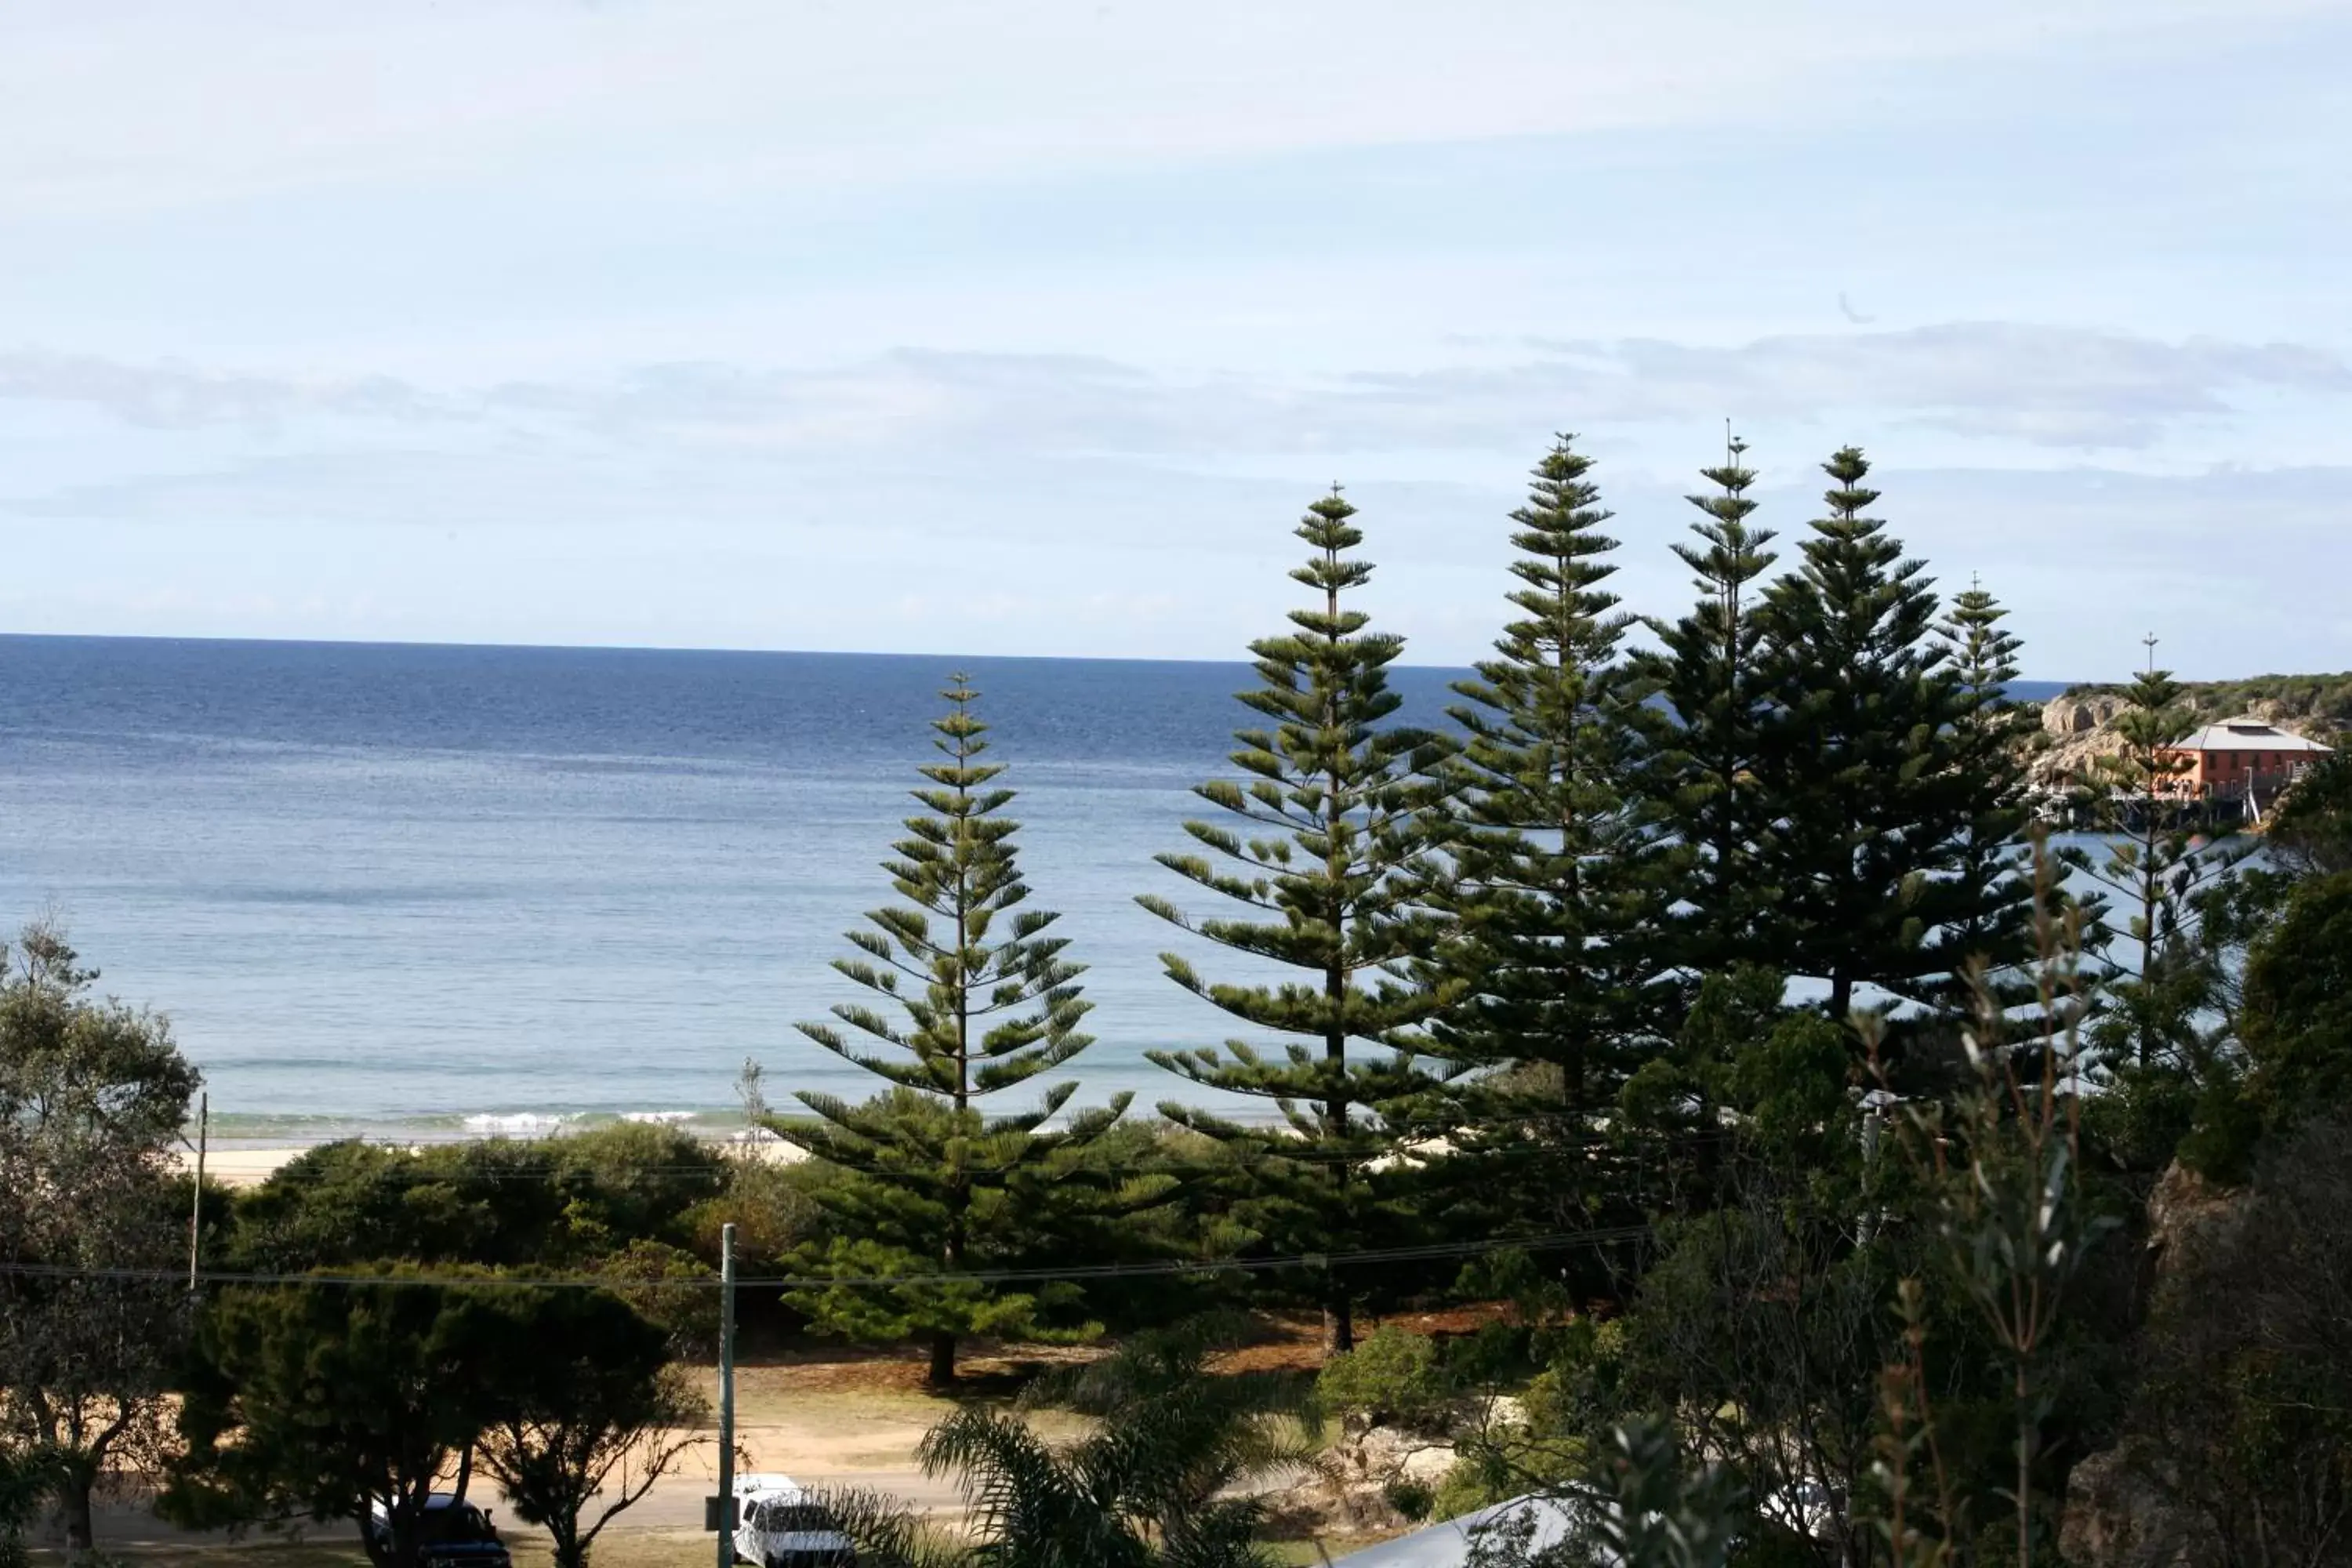
MULTIPOLYGON (((809 1291, 823 1286, 889 1288, 889 1286, 943 1286, 943 1284, 1058 1284, 1084 1279, 1164 1279, 1185 1274, 1223 1272, 1272 1272, 1272 1269, 1341 1269, 1374 1262, 1430 1262, 1439 1258, 1482 1258, 1491 1253, 1541 1253, 1571 1246, 1604 1246, 1609 1241, 1637 1241, 1649 1234, 1646 1225, 1611 1225, 1604 1229, 1550 1232, 1541 1237, 1489 1237, 1486 1241, 1432 1241, 1425 1246, 1385 1246, 1357 1253, 1287 1253, 1279 1258, 1223 1258, 1223 1260, 1160 1260, 1160 1262, 1098 1262, 1051 1269, 971 1269, 971 1272, 924 1272, 924 1274, 776 1274, 762 1279, 736 1279, 736 1288, 809 1291)), ((26 1279, 122 1279, 122 1281, 186 1281, 186 1269, 129 1269, 129 1267, 75 1267, 64 1262, 0 1262, 0 1274, 26 1279)), ((198 1269, 200 1284, 216 1286, 435 1286, 435 1288, 527 1288, 527 1291, 715 1291, 717 1274, 644 1279, 630 1274, 353 1274, 353 1272, 238 1272, 198 1269)))

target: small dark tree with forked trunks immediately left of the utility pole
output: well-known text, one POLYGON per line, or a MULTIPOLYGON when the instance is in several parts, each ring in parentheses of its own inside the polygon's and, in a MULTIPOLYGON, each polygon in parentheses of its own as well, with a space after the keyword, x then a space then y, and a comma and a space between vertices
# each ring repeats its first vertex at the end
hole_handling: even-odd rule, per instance
POLYGON ((503 1394, 480 1465, 548 1530, 557 1568, 583 1568, 604 1526, 703 1441, 708 1408, 670 1366, 668 1333, 604 1291, 506 1291, 477 1333, 503 1394))

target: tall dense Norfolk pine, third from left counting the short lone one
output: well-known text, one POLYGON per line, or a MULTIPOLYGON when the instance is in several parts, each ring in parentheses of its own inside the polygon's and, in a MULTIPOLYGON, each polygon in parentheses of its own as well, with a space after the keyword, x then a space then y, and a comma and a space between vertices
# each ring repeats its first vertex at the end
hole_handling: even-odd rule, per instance
POLYGON ((1632 616, 1604 588, 1616 541, 1562 435, 1510 515, 1517 611, 1451 708, 1463 729, 1432 811, 1444 856, 1430 973, 1451 1006, 1430 1051, 1475 1067, 1456 1084, 1449 1173, 1484 1208, 1578 1225, 1616 1173, 1595 1164, 1597 1121, 1658 1048, 1677 985, 1651 940, 1670 893, 1628 785, 1651 729, 1621 658, 1632 616), (1526 1159, 1526 1119, 1550 1119, 1526 1159))

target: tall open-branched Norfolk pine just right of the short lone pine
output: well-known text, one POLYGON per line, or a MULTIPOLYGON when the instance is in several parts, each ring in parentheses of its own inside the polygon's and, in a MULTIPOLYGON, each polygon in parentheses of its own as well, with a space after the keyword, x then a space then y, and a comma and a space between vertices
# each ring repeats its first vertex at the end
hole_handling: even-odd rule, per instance
MULTIPOLYGON (((1399 708, 1388 665, 1404 649, 1369 616, 1345 609, 1371 564, 1350 555, 1362 531, 1338 487, 1308 508, 1296 534, 1310 555, 1291 578, 1315 599, 1291 628, 1251 644, 1261 684, 1240 701, 1265 717, 1235 731, 1244 780, 1197 788, 1237 825, 1185 823, 1209 853, 1162 853, 1160 865, 1242 905, 1235 919, 1192 919, 1145 893, 1152 914, 1221 947, 1303 971, 1303 980, 1214 983, 1167 952, 1171 980, 1244 1025, 1303 1037, 1282 1056, 1249 1041, 1225 1051, 1152 1051, 1150 1060, 1192 1084, 1270 1100, 1289 1135, 1167 1103, 1160 1112, 1244 1152, 1249 1225, 1284 1253, 1334 1253, 1397 1234, 1411 1215, 1392 1192, 1409 1180, 1397 1154, 1409 1110, 1442 1081, 1409 1048, 1411 1030, 1444 992, 1399 978, 1425 952, 1414 910, 1425 844, 1425 778, 1442 745, 1425 731, 1385 726, 1399 708), (1214 856, 1214 858, 1211 858, 1214 856), (1374 1048, 1367 1058, 1362 1041, 1374 1048)), ((1355 1345, 1352 1293, 1327 1272, 1317 1286, 1324 1342, 1355 1345)))

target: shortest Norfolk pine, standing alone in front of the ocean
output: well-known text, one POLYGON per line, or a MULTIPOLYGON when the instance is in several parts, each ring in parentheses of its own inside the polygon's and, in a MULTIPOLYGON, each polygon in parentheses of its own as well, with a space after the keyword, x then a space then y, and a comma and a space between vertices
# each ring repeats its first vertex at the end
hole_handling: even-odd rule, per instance
POLYGON ((1007 1114, 978 1105, 1077 1056, 1091 1039, 1080 1032, 1091 1004, 1080 994, 1082 966, 1063 957, 1068 938, 1054 933, 1058 917, 1021 907, 1018 823, 1004 816, 1014 792, 995 785, 1000 764, 981 762, 988 726, 971 712, 976 693, 957 675, 946 698, 948 715, 931 724, 943 762, 922 766, 929 788, 915 790, 924 813, 906 818, 898 858, 882 867, 906 903, 873 910, 870 929, 849 933, 858 957, 833 964, 877 1004, 835 1006, 847 1032, 800 1025, 891 1088, 858 1105, 800 1093, 811 1117, 767 1119, 842 1168, 842 1180, 816 1192, 840 1234, 793 1258, 795 1272, 840 1284, 795 1291, 790 1302, 828 1333, 924 1335, 934 1385, 955 1382, 957 1340, 971 1333, 1091 1333, 1054 1324, 1077 1302, 1068 1284, 1016 1288, 967 1274, 1018 1255, 1049 1208, 1080 1199, 1089 1180, 1080 1152, 1129 1103, 1117 1095, 1056 1131, 1044 1124, 1075 1081, 1007 1114))

